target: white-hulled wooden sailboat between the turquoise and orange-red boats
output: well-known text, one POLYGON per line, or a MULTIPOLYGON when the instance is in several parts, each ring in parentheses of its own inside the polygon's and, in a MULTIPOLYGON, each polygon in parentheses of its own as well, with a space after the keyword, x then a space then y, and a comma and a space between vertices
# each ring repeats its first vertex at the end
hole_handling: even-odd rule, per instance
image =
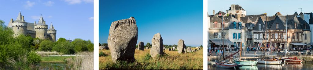
MULTIPOLYGON (((266 37, 266 33, 267 33, 267 16, 265 15, 265 37, 266 37)), ((265 40, 265 45, 267 46, 267 40, 265 40)), ((276 59, 276 58, 273 58, 269 55, 267 55, 267 47, 265 46, 265 52, 264 52, 264 56, 265 58, 269 57, 268 59, 265 59, 265 58, 260 58, 258 59, 258 63, 262 63, 262 64, 280 64, 281 63, 281 60, 279 59, 276 59)))

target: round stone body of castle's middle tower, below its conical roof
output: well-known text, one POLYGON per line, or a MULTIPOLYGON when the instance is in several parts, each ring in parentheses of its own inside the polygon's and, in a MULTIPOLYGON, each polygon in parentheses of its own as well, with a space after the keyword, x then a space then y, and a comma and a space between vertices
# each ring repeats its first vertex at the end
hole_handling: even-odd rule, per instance
POLYGON ((48 26, 47 25, 36 25, 35 26, 35 30, 36 30, 36 38, 39 39, 47 39, 48 38, 48 26))

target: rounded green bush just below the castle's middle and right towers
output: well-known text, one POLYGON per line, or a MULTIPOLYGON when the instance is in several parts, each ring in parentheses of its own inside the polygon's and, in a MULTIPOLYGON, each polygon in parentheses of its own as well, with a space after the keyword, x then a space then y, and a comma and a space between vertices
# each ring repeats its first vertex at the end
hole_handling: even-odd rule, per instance
POLYGON ((44 40, 39 44, 39 49, 40 51, 51 51, 53 48, 54 44, 50 40, 44 40))

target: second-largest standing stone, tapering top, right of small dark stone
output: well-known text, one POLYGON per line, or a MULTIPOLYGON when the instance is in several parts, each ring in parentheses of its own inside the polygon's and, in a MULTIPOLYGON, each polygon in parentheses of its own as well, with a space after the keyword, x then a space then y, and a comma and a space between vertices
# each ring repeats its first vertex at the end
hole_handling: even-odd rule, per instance
POLYGON ((156 55, 163 54, 163 39, 160 33, 157 33, 152 38, 152 47, 150 49, 151 57, 154 58, 156 55))

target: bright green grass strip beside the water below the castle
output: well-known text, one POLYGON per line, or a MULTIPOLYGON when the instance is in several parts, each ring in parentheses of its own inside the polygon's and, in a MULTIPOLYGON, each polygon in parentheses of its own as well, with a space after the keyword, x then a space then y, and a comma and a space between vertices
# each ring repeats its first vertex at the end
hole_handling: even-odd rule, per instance
POLYGON ((71 60, 75 56, 45 56, 41 57, 41 62, 64 62, 64 60, 71 60))

